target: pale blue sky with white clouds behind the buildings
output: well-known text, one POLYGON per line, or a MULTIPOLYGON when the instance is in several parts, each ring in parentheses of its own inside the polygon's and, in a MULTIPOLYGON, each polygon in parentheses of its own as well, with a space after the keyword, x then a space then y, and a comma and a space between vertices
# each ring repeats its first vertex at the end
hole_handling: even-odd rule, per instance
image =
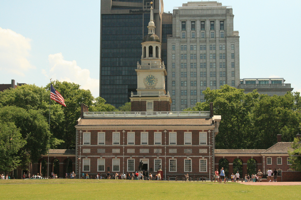
MULTIPOLYGON (((301 1, 223 0, 240 36, 240 78, 284 78, 301 92, 301 1)), ((187 1, 163 0, 164 12, 187 1)), ((100 0, 1 0, 0 84, 74 82, 99 95, 100 0)), ((136 63, 133 63, 135 65, 136 63)))

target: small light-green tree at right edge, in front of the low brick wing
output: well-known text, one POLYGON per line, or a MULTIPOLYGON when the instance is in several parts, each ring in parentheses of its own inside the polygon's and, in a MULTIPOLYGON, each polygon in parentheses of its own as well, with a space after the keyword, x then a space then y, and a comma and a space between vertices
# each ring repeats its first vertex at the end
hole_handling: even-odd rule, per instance
POLYGON ((301 171, 301 140, 299 137, 294 139, 291 147, 292 150, 289 150, 288 154, 290 155, 292 168, 295 171, 301 171))

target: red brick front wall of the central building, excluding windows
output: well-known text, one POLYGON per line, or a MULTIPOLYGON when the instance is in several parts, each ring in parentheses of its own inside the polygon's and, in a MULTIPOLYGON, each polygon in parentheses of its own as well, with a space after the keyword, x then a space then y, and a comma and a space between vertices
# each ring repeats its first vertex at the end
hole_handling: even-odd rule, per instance
MULTIPOLYGON (((100 130, 88 130, 90 132, 91 145, 81 145, 81 156, 82 159, 90 159, 90 171, 85 172, 90 176, 95 178, 95 175, 98 173, 97 162, 98 159, 105 159, 105 172, 110 171, 112 173, 112 160, 119 159, 119 172, 127 172, 127 160, 135 159, 135 170, 138 169, 140 159, 148 159, 148 169, 151 173, 154 171, 154 159, 161 159, 161 168, 163 173, 165 172, 165 133, 164 130, 125 130, 123 136, 123 130, 101 130, 105 132, 105 145, 98 145, 98 131, 100 130), (120 145, 112 145, 112 134, 113 132, 120 133, 120 145), (127 132, 135 132, 135 145, 127 145, 127 132), (148 144, 141 145, 141 132, 148 132, 148 144), (154 132, 161 132, 161 145, 154 145, 154 132), (123 137, 124 137, 124 158, 123 158, 123 137), (89 149, 90 153, 83 153, 83 149, 89 149), (98 149, 103 149, 103 153, 99 153, 98 149), (134 152, 128 153, 128 149, 134 149, 134 152), (148 150, 148 153, 141 153, 142 150, 148 150), (161 152, 158 153, 155 151, 161 149, 161 152), (117 150, 117 151, 116 151, 117 150), (119 150, 119 151, 118 151, 119 150), (118 152, 118 153, 113 153, 118 152), (109 168, 109 170, 108 170, 109 168), (153 171, 151 171, 151 168, 153 171)), ((186 130, 167 130, 166 131, 166 175, 169 177, 175 177, 184 174, 184 160, 187 157, 191 158, 192 162, 192 172, 186 172, 195 177, 207 177, 209 178, 209 136, 207 132, 207 145, 199 145, 199 132, 200 130, 190 130, 192 132, 192 145, 184 145, 184 132, 186 130), (177 132, 177 145, 168 145, 169 144, 169 132, 177 132), (169 149, 176 149, 176 153, 169 153, 169 149), (187 149, 191 152, 187 152, 187 149), (200 149, 206 149, 207 153, 200 153, 200 149), (207 172, 199 172, 199 163, 200 160, 204 157, 207 159, 207 172), (169 172, 169 159, 177 159, 177 172, 169 172)), ((84 131, 85 132, 85 131, 84 131)), ((82 136, 83 138, 83 136, 82 136)), ((210 140, 212 142, 212 140, 210 140)), ((211 144, 212 145, 212 144, 211 144)), ((79 144, 78 144, 79 147, 79 144)), ((212 159, 212 157, 210 158, 212 159)), ((212 162, 212 160, 211 160, 212 162)), ((82 165, 82 163, 81 163, 82 165)), ((81 166, 82 168, 83 166, 81 166)), ((212 170, 212 169, 211 169, 212 170)), ((99 173, 105 173, 99 172, 99 173)), ((82 173, 82 171, 81 171, 82 173)), ((115 172, 114 172, 115 173, 115 172)), ((211 172, 212 174, 213 172, 211 172)))

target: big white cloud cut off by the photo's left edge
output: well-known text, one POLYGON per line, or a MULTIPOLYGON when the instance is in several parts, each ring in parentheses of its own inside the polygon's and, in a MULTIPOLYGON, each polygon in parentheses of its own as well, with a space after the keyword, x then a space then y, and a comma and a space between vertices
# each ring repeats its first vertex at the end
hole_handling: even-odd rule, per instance
POLYGON ((25 71, 35 69, 28 57, 31 49, 30 39, 10 29, 0 27, 0 70, 24 76, 25 71))

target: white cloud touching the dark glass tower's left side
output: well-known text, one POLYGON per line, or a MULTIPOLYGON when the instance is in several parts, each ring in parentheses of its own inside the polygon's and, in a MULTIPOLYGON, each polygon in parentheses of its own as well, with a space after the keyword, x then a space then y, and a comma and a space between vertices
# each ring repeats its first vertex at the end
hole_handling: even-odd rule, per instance
POLYGON ((80 68, 76 61, 64 60, 62 53, 50 54, 48 61, 50 72, 47 75, 45 71, 42 71, 45 76, 52 78, 52 80, 74 82, 81 85, 82 89, 89 89, 94 97, 99 96, 99 80, 92 79, 88 69, 80 68))

